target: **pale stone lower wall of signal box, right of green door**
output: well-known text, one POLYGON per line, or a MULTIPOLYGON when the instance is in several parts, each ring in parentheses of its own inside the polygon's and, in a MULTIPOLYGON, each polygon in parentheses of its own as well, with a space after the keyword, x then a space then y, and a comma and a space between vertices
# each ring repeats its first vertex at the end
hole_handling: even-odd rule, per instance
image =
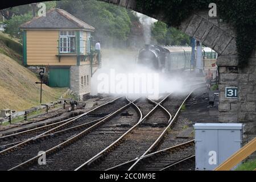
POLYGON ((70 68, 70 88, 82 100, 82 96, 90 93, 90 65, 72 66, 70 68))

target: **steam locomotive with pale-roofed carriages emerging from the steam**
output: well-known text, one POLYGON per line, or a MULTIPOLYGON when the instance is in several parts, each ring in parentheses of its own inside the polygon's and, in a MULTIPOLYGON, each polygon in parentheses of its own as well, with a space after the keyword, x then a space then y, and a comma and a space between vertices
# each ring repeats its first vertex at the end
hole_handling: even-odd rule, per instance
MULTIPOLYGON (((191 47, 185 46, 157 46, 146 44, 139 50, 137 64, 147 68, 171 72, 191 67, 191 47)), ((203 56, 216 59, 217 53, 212 49, 203 48, 203 56)))

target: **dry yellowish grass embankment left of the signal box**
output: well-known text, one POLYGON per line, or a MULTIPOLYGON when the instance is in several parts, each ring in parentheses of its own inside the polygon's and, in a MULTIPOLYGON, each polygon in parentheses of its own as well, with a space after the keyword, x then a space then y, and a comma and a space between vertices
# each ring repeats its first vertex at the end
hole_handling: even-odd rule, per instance
MULTIPOLYGON (((40 105, 40 81, 35 73, 22 65, 22 45, 0 34, 0 110, 25 110, 40 105)), ((67 88, 43 85, 42 102, 56 101, 67 88)))

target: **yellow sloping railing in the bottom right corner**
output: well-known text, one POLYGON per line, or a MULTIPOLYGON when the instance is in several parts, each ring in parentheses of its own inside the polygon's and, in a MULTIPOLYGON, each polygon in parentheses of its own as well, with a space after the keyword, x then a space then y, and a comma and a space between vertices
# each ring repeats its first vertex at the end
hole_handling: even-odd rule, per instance
MULTIPOLYGON (((240 150, 234 153, 230 158, 226 159, 220 166, 214 169, 214 171, 229 171, 237 164, 239 164, 247 156, 253 154, 256 151, 256 137, 243 146, 240 150)), ((256 170, 256 169, 255 169, 256 170)))

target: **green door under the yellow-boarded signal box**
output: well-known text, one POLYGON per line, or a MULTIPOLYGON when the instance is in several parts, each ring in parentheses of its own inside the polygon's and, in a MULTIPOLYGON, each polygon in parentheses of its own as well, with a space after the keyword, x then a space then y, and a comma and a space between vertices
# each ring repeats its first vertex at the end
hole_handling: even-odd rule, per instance
POLYGON ((49 86, 69 87, 69 68, 50 68, 49 86))

